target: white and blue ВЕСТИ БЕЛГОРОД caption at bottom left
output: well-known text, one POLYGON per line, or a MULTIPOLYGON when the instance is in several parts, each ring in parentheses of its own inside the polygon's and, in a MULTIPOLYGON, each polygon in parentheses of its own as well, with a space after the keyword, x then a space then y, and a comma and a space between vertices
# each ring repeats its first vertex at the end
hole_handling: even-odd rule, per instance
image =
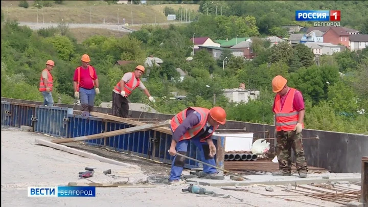
POLYGON ((28 197, 96 197, 95 186, 28 187, 28 197))

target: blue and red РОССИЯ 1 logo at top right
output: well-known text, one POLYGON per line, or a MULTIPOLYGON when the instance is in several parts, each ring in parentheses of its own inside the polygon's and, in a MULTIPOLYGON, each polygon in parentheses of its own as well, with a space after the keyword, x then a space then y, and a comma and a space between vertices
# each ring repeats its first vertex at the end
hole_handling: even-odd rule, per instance
POLYGON ((340 21, 340 10, 297 10, 296 21, 340 21))

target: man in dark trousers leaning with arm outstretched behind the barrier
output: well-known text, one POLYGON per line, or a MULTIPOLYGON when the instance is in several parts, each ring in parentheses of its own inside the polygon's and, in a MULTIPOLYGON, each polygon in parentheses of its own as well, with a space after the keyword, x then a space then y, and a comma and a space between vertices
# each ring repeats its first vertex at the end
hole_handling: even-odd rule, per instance
POLYGON ((112 115, 116 117, 127 118, 129 112, 129 101, 127 97, 132 91, 139 87, 143 93, 148 97, 149 101, 155 102, 150 95, 148 89, 141 82, 140 77, 145 72, 145 67, 138 65, 134 72, 125 73, 122 79, 112 90, 112 115))

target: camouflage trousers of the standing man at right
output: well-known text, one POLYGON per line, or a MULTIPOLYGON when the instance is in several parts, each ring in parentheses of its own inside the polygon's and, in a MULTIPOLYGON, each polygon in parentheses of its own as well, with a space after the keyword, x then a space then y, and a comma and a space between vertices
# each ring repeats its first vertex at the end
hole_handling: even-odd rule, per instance
POLYGON ((302 134, 296 134, 295 131, 278 131, 276 138, 276 153, 280 170, 285 173, 291 172, 291 149, 293 149, 296 159, 296 170, 299 173, 308 172, 307 160, 303 149, 302 134))

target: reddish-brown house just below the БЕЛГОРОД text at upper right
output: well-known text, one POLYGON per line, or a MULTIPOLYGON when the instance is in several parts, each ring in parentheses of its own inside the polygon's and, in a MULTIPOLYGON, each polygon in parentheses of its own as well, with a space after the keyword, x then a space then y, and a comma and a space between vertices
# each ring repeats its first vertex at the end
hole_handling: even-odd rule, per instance
POLYGON ((332 44, 342 44, 349 48, 350 34, 341 27, 330 27, 324 34, 324 42, 332 44))

